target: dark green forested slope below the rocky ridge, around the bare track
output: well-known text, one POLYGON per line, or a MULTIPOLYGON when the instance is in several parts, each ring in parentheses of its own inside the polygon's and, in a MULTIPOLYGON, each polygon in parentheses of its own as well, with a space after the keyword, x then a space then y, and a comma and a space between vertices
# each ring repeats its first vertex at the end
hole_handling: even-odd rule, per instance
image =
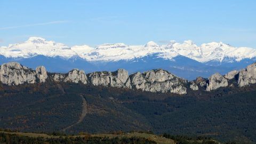
POLYGON ((256 142, 256 85, 186 95, 151 93, 74 83, 0 86, 0 127, 21 132, 111 133, 202 136, 226 142, 256 142))

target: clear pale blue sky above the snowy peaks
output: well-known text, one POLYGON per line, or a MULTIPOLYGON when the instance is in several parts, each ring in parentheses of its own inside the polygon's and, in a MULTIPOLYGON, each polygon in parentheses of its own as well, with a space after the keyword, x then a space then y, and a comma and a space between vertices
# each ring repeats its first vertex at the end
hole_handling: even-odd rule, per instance
POLYGON ((69 46, 191 39, 256 48, 256 1, 1 0, 0 46, 30 36, 69 46))

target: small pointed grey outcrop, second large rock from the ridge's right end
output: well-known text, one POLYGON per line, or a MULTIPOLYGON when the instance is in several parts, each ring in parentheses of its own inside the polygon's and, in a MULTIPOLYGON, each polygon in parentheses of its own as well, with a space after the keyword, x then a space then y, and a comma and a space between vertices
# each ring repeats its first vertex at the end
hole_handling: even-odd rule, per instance
POLYGON ((218 89, 219 87, 228 86, 228 80, 219 73, 213 74, 208 79, 209 84, 206 86, 206 91, 212 91, 218 89))

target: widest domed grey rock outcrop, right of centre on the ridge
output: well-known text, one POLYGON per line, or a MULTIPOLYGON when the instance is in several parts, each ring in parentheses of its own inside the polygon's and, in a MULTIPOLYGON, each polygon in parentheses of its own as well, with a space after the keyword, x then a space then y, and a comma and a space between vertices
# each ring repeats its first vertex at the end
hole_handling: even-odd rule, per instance
POLYGON ((187 81, 163 69, 150 70, 145 73, 138 72, 130 77, 132 87, 137 90, 177 94, 187 93, 185 86, 187 81))

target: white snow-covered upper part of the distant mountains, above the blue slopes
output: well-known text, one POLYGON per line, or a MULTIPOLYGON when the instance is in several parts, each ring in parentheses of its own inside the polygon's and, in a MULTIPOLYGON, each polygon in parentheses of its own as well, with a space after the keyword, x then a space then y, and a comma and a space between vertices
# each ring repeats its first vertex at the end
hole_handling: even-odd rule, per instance
POLYGON ((158 45, 153 41, 145 45, 125 45, 124 43, 102 44, 97 47, 88 45, 69 47, 62 43, 46 41, 41 37, 30 37, 26 42, 1 46, 0 55, 6 58, 30 58, 36 55, 62 57, 70 59, 78 56, 87 61, 118 61, 142 58, 157 53, 157 57, 173 59, 178 55, 198 62, 219 61, 231 58, 235 61, 256 57, 256 49, 250 47, 233 47, 222 42, 211 42, 197 46, 192 41, 177 43, 170 41, 167 45, 158 45))

